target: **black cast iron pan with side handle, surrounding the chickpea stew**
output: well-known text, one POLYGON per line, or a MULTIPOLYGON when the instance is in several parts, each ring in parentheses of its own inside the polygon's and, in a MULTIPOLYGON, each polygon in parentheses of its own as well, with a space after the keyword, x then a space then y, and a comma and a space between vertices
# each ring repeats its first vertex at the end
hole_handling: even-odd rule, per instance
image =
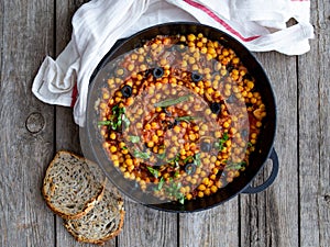
POLYGON ((276 133, 276 102, 270 80, 256 58, 241 43, 211 26, 197 23, 161 24, 141 31, 129 38, 117 42, 114 47, 112 47, 100 61, 91 77, 86 119, 87 139, 84 143, 82 150, 85 149, 87 153, 91 153, 91 158, 100 165, 111 182, 114 183, 122 192, 129 195, 132 200, 153 209, 168 212, 196 212, 210 209, 230 200, 239 193, 256 193, 265 190, 273 183, 278 172, 278 158, 273 147, 276 133), (158 34, 175 35, 189 33, 202 33, 208 38, 219 41, 238 54, 250 74, 256 79, 255 87, 261 92, 266 105, 267 115, 265 117, 263 128, 261 130, 258 142, 255 146, 257 151, 250 155, 249 168, 244 172, 241 172, 240 177, 235 178, 227 187, 218 190, 217 193, 211 194, 210 197, 187 201, 185 204, 180 204, 178 202, 160 203, 160 201, 153 201, 152 199, 146 201, 143 192, 139 188, 134 189, 132 181, 123 179, 121 172, 111 165, 101 145, 102 141, 98 134, 99 131, 97 130, 98 116, 95 110, 95 102, 99 98, 100 88, 107 78, 107 71, 102 70, 102 68, 107 66, 108 63, 111 63, 111 60, 116 57, 127 53, 128 50, 142 46, 146 40, 153 38, 158 34), (273 164, 268 179, 260 187, 251 187, 254 177, 262 170, 267 159, 272 159, 273 164))

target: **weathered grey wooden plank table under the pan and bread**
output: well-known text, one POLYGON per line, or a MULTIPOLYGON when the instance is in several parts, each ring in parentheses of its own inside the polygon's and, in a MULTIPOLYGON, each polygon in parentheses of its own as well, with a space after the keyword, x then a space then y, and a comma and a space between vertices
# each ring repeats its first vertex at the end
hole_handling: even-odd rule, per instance
MULTIPOLYGON (((42 103, 31 86, 45 55, 56 57, 68 43, 70 19, 82 3, 0 1, 0 246, 81 246, 41 195, 54 154, 80 154, 78 127, 72 109, 42 103)), ((312 1, 311 22, 316 38, 309 53, 255 54, 277 96, 275 183, 194 214, 127 202, 123 232, 106 246, 330 246, 329 0, 312 1)))

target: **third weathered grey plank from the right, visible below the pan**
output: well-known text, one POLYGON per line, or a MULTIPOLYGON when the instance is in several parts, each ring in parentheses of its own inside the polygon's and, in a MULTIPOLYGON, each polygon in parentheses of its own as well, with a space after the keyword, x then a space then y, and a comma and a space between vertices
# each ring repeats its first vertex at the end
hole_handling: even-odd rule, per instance
POLYGON ((179 217, 179 246, 239 246, 239 200, 199 213, 179 217))

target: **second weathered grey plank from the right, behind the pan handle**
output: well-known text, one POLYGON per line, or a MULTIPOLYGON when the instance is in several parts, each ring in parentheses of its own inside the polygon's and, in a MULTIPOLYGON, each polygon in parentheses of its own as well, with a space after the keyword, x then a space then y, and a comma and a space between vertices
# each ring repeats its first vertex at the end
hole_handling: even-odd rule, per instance
MULTIPOLYGON (((296 58, 257 54, 277 98, 275 148, 279 173, 265 192, 241 195, 241 246, 298 246, 297 75, 296 58)), ((260 184, 268 166, 258 176, 260 184)))

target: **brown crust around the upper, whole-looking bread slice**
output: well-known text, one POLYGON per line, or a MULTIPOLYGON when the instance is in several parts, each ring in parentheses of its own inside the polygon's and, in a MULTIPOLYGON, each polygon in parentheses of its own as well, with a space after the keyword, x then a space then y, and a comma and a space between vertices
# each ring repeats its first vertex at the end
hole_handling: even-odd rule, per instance
MULTIPOLYGON (((65 218, 65 220, 76 220, 76 218, 80 218, 84 215, 86 215, 99 201, 102 200, 103 193, 105 193, 105 188, 106 188, 106 179, 101 182, 101 184, 99 186, 99 189, 96 191, 95 194, 92 194, 81 206, 81 209, 77 210, 76 213, 67 213, 65 212, 64 209, 59 209, 57 206, 55 206, 52 203, 52 195, 54 195, 56 187, 58 184, 54 183, 54 180, 52 178, 52 169, 54 169, 54 165, 56 162, 59 162, 59 158, 63 156, 69 156, 72 158, 75 158, 77 160, 79 160, 80 162, 90 162, 89 160, 85 159, 84 157, 77 156, 70 151, 66 151, 66 150, 59 150, 54 159, 51 161, 45 177, 44 177, 44 181, 43 181, 43 188, 42 188, 42 194, 45 199, 45 202, 47 204, 47 206, 57 215, 59 215, 61 217, 65 218)), ((92 181, 96 182, 96 181, 92 181)))

